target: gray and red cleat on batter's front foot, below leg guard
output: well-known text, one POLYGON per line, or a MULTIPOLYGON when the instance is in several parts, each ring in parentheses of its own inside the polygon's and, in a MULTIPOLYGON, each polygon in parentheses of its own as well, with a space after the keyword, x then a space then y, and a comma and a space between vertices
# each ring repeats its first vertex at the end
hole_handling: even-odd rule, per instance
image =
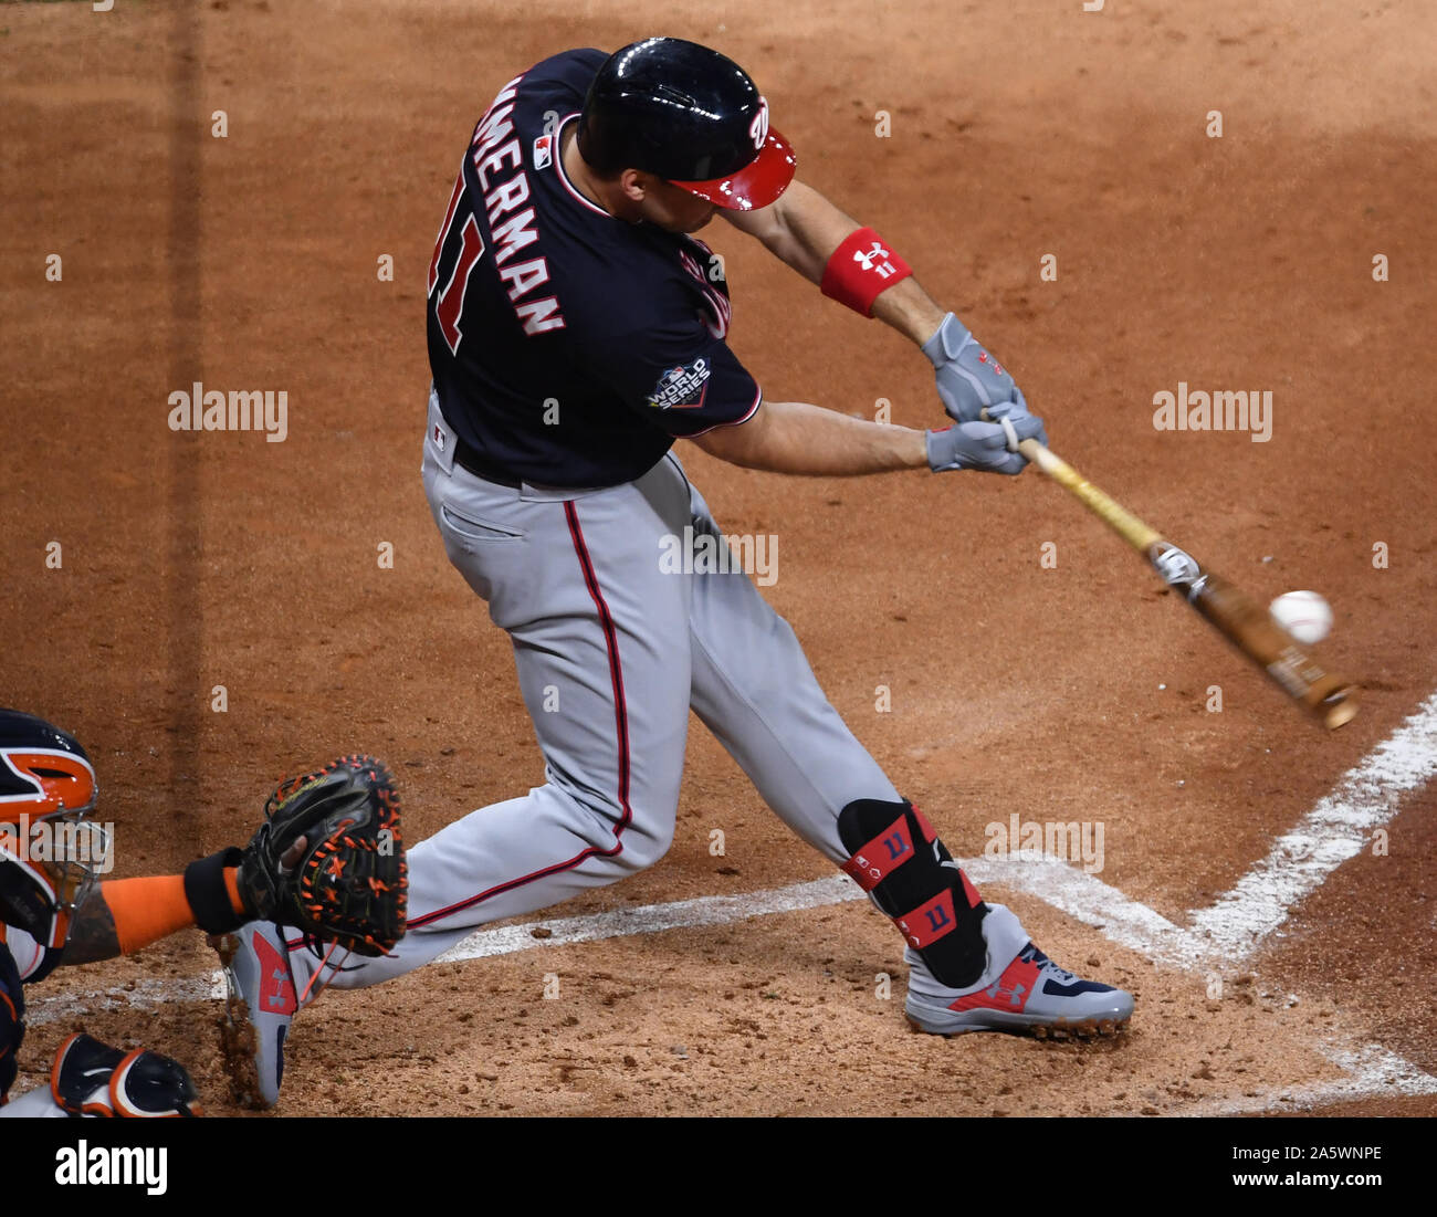
POLYGON ((940 1036, 966 1032, 1015 1032, 1038 1039, 1111 1036, 1132 1017, 1132 994, 1111 984, 1081 980, 1045 955, 1003 905, 983 918, 989 967, 976 984, 947 989, 911 947, 908 1022, 940 1036), (1006 961, 1006 963, 1000 963, 1006 961))

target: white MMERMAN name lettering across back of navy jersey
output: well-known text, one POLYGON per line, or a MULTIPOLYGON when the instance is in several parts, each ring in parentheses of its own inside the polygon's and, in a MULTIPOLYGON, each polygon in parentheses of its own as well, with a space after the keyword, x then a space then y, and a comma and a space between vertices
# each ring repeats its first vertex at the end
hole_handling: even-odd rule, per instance
MULTIPOLYGON (((529 178, 525 175, 523 148, 514 138, 512 121, 520 79, 510 80, 479 121, 474 138, 470 141, 470 157, 484 191, 484 214, 493 237, 494 266, 525 333, 535 335, 547 329, 563 329, 565 320, 555 296, 525 299, 549 282, 547 259, 512 262, 519 250, 539 240, 535 208, 523 207, 529 200, 529 178), (500 223, 504 216, 510 218, 500 223)), ((535 159, 537 164, 537 144, 535 159)))

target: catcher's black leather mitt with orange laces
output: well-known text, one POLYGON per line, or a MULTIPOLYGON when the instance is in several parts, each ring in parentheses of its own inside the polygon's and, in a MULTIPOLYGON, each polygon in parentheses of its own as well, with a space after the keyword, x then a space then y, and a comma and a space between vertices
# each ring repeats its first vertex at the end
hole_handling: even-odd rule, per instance
POLYGON ((394 777, 372 756, 342 756, 283 782, 244 848, 240 894, 254 915, 295 925, 305 944, 382 955, 404 937, 410 871, 394 777), (299 861, 282 859, 299 838, 299 861))

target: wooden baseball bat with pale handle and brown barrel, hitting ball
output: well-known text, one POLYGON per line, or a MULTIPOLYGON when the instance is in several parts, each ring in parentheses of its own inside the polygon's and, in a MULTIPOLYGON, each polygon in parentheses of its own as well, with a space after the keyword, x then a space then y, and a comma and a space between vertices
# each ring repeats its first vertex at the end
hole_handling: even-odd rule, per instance
POLYGON ((1357 685, 1328 671, 1242 588, 1201 566, 1038 440, 1017 450, 1152 563, 1163 580, 1329 730, 1357 714, 1357 685))

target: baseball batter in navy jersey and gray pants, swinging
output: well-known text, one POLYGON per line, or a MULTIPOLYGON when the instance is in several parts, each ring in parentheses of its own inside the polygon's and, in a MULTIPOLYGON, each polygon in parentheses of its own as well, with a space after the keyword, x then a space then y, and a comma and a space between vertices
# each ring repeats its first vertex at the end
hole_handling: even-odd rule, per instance
POLYGON ((290 1019, 323 987, 387 980, 477 925, 657 862, 690 708, 894 920, 918 1027, 1094 1035, 1132 1013, 1129 994, 1059 968, 980 898, 737 563, 661 560, 674 537, 724 545, 675 440, 829 477, 1017 474, 1017 443, 1046 441, 1013 378, 795 162, 747 73, 677 39, 546 59, 474 128, 428 267, 424 490, 450 562, 513 642, 545 783, 411 851, 408 934, 388 958, 320 958, 283 927, 246 927, 230 1012, 254 1033, 244 1089, 260 1102, 279 1095, 290 1019), (693 236, 714 216, 921 346, 951 425, 766 401, 727 343, 720 264, 693 236))

